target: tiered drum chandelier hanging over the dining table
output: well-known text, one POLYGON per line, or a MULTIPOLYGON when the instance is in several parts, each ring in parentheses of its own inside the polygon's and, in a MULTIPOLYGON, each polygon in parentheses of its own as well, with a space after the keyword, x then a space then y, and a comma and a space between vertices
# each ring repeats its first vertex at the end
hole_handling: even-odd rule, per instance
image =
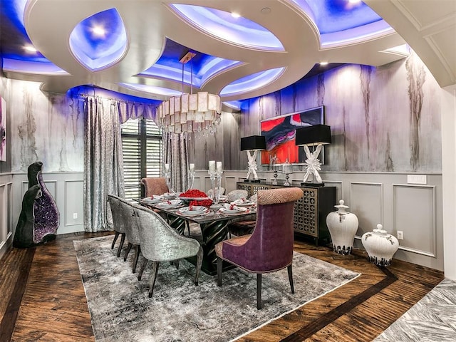
POLYGON ((163 101, 157 108, 157 121, 165 133, 201 133, 203 130, 214 134, 220 123, 222 103, 219 95, 200 91, 193 93, 193 66, 190 65, 190 94, 184 93, 184 66, 196 56, 187 52, 180 59, 182 63, 182 95, 163 101))

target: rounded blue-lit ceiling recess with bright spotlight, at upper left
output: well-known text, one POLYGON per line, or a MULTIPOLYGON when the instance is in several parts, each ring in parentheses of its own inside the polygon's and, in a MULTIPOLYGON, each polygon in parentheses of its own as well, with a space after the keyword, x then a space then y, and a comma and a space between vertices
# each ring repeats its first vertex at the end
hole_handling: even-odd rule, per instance
POLYGON ((117 62, 127 49, 127 33, 118 11, 108 9, 81 21, 71 32, 70 48, 90 71, 117 62))

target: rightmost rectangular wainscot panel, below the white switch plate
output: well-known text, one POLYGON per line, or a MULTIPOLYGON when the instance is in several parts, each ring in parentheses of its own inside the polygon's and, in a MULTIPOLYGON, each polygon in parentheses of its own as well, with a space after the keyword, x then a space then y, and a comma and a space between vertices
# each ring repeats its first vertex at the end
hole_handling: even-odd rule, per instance
POLYGON ((394 233, 400 249, 435 257, 435 187, 393 184, 394 233))

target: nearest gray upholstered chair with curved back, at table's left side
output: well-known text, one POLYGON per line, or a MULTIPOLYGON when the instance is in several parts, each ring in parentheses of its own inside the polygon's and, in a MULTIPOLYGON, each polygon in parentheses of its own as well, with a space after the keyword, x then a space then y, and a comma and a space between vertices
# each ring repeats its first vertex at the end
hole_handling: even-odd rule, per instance
POLYGON ((135 205, 134 210, 139 227, 142 256, 145 257, 138 275, 139 280, 141 280, 148 261, 153 262, 149 297, 152 297, 153 294, 158 266, 163 261, 176 261, 178 267, 180 259, 196 256, 195 285, 198 285, 202 265, 202 247, 199 242, 178 234, 165 219, 150 209, 135 205))

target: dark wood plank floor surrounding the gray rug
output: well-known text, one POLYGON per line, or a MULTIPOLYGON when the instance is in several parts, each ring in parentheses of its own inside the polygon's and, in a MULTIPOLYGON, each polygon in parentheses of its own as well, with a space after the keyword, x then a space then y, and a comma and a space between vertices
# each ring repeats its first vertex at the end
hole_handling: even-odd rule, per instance
MULTIPOLYGON (((6 253, 0 260, 1 342, 94 341, 73 240, 104 234, 111 233, 60 235, 6 253)), ((397 260, 379 269, 359 250, 341 256, 302 241, 295 250, 362 275, 239 341, 372 341, 444 278, 397 260)))

